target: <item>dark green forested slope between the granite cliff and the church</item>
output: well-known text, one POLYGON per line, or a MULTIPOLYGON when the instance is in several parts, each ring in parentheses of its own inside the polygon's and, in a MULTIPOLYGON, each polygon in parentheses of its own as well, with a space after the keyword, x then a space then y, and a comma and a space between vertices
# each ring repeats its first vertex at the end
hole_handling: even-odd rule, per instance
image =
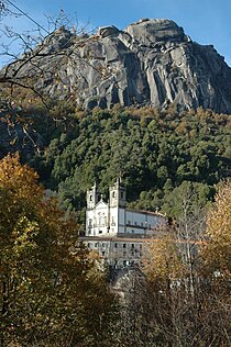
MULTIPOLYGON (((2 122, 7 116, 14 128, 26 128, 29 136, 21 139, 20 132, 11 132, 10 148, 22 152, 65 209, 84 209, 95 180, 106 193, 120 177, 131 206, 157 208, 170 216, 184 181, 193 182, 206 203, 213 184, 231 175, 231 115, 202 109, 178 113, 174 105, 167 111, 116 105, 88 112, 70 101, 50 110, 14 108, 2 122)), ((3 139, 0 145, 4 154, 3 139)))

